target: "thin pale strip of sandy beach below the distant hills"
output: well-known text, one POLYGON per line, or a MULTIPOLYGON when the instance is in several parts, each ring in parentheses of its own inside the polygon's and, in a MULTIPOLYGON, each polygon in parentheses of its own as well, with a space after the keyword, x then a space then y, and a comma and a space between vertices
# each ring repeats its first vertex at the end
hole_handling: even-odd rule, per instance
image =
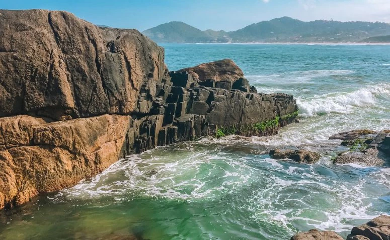
POLYGON ((390 45, 390 42, 243 42, 243 43, 217 43, 217 42, 158 42, 158 44, 258 44, 258 45, 390 45))

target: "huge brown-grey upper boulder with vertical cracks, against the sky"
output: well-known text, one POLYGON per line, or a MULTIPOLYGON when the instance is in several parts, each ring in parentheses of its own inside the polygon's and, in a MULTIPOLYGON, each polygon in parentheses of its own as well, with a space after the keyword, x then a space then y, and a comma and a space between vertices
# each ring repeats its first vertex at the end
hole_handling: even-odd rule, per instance
POLYGON ((67 12, 0 10, 0 117, 55 120, 139 111, 164 50, 136 30, 100 29, 67 12))

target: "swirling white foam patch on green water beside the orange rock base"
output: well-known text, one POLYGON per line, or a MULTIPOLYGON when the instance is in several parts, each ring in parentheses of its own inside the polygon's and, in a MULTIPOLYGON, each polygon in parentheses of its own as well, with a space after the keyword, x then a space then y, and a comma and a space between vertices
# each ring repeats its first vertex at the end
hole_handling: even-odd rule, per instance
POLYGON ((121 196, 141 194, 193 201, 220 197, 224 192, 253 181, 250 177, 253 169, 244 164, 245 161, 229 158, 231 154, 228 153, 184 152, 182 157, 176 155, 173 158, 149 158, 148 154, 122 159, 92 180, 63 190, 57 197, 94 199, 116 196, 121 199, 121 196), (155 174, 150 176, 153 170, 155 174), (199 174, 202 177, 198 177, 199 174))

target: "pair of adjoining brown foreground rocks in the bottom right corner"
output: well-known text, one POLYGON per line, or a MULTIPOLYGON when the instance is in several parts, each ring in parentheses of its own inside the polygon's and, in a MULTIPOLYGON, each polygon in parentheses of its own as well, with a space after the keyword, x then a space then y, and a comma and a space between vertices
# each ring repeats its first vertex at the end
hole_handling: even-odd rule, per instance
MULTIPOLYGON (((291 237, 291 240, 314 240, 314 239, 343 239, 334 231, 319 231, 311 229, 300 232, 291 237)), ((352 228, 347 240, 389 240, 390 239, 390 216, 380 215, 366 224, 352 228)))

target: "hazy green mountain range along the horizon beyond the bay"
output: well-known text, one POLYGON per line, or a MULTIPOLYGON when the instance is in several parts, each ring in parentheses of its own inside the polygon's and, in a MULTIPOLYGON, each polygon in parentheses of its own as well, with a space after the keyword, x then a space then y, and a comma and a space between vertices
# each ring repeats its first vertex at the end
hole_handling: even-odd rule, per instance
POLYGON ((170 22, 143 32, 157 42, 359 42, 373 36, 390 35, 390 24, 317 20, 303 22, 289 17, 262 21, 237 31, 194 28, 170 22))

